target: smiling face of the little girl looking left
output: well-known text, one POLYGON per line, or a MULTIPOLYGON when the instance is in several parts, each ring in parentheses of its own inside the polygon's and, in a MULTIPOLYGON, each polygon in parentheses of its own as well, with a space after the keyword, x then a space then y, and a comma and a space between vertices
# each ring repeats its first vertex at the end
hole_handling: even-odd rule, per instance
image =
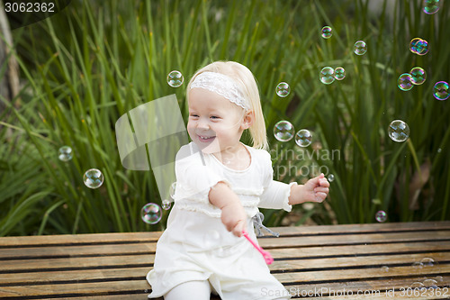
POLYGON ((243 108, 203 88, 189 91, 187 132, 204 153, 238 150, 242 132, 251 122, 243 108))

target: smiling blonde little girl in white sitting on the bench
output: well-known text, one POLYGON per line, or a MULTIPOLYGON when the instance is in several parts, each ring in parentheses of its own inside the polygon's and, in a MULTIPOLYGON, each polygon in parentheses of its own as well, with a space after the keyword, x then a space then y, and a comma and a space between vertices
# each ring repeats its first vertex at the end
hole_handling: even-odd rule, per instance
POLYGON ((186 98, 192 142, 176 155, 175 204, 147 276, 148 297, 205 300, 213 291, 223 300, 290 298, 242 232, 257 241, 251 218, 258 207, 290 212, 291 205, 322 202, 329 182, 323 174, 305 185, 273 180, 257 82, 243 65, 201 68, 186 98), (240 142, 246 129, 253 147, 240 142))

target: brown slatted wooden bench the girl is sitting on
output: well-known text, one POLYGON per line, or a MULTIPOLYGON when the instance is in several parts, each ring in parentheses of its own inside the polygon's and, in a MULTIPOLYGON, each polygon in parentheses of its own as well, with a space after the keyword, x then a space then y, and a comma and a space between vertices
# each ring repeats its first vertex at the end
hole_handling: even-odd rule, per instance
MULTIPOLYGON (((274 256, 270 269, 293 298, 450 298, 450 222, 274 230, 279 238, 259 243, 274 256)), ((0 298, 147 299, 145 276, 159 235, 0 238, 0 298)))

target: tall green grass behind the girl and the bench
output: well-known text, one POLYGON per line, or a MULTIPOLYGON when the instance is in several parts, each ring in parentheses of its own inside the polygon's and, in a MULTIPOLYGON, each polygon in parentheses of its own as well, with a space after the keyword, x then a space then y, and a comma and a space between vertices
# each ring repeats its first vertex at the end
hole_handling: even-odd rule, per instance
MULTIPOLYGON (((220 59, 257 77, 275 178, 302 182, 314 165, 336 178, 326 204, 294 208, 298 223, 372 223, 378 210, 390 222, 449 219, 449 106, 432 95, 437 81, 450 81, 449 15, 445 7, 423 14, 419 1, 376 1, 376 13, 370 3, 82 1, 15 30, 23 89, 2 99, 10 114, 1 114, 0 235, 161 230, 167 212, 157 225, 140 221, 141 206, 161 200, 151 171, 122 168, 114 123, 170 94, 187 116, 187 80, 220 59), (329 40, 320 37, 324 25, 333 28, 329 40), (414 37, 429 42, 427 55, 410 52, 414 37), (364 56, 353 53, 358 40, 364 56), (325 66, 344 67, 347 77, 323 85, 325 66), (427 81, 401 91, 397 78, 416 66, 427 81), (182 87, 166 84, 173 69, 184 74, 182 87), (291 86, 285 98, 275 94, 281 81, 291 86), (387 136, 394 119, 410 125, 408 141, 387 136), (313 144, 276 141, 280 120, 311 130, 313 144), (63 145, 74 151, 68 162, 58 160, 63 145), (103 172, 103 186, 83 184, 88 168, 103 172)), ((269 225, 286 216, 265 214, 269 225)))

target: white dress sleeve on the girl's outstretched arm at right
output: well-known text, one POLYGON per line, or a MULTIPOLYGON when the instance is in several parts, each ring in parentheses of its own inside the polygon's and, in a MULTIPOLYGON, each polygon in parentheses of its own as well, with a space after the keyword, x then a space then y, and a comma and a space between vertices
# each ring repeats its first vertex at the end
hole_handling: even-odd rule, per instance
POLYGON ((297 183, 285 184, 273 179, 274 169, 272 168, 272 160, 268 152, 265 153, 264 168, 264 191, 260 195, 258 207, 272 209, 283 208, 286 212, 291 212, 293 206, 289 205, 289 195, 291 195, 291 186, 297 185, 297 183))

